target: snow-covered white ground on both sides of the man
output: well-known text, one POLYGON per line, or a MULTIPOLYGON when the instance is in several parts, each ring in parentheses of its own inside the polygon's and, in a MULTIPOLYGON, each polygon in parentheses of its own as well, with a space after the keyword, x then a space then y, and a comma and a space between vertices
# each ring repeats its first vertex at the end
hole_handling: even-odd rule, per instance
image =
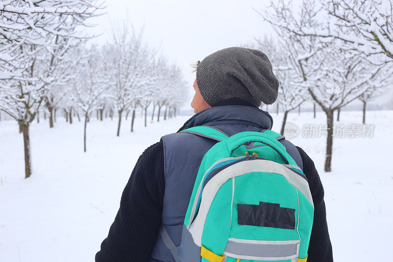
MULTIPOLYGON (((272 113, 274 131, 282 115, 272 113)), ((94 118, 94 117, 93 117, 94 118)), ((83 123, 57 119, 31 126, 33 174, 24 179, 23 140, 14 121, 0 122, 0 261, 93 261, 117 212, 122 190, 143 150, 176 132, 186 116, 149 123, 136 132, 123 120, 92 119, 83 152, 83 123)), ((76 119, 75 119, 76 120, 76 119)), ((342 112, 340 124, 360 123, 361 112, 342 112)), ((291 113, 301 130, 290 141, 313 159, 324 189, 336 262, 390 261, 393 234, 393 111, 367 112, 372 138, 336 138, 333 169, 323 172, 325 138, 303 138, 304 124, 324 124, 318 113, 291 113)), ((317 134, 317 133, 316 133, 317 134)))

